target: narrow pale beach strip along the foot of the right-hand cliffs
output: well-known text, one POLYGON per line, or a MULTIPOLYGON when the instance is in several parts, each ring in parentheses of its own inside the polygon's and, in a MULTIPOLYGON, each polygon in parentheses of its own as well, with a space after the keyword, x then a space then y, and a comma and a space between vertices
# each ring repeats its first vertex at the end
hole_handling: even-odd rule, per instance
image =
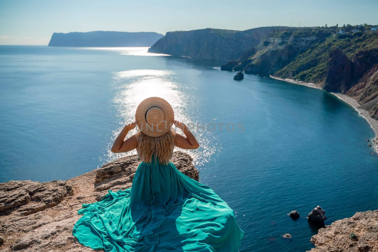
MULTIPOLYGON (((323 90, 322 88, 320 88, 319 86, 317 86, 314 83, 307 83, 307 82, 304 82, 304 81, 296 81, 296 80, 292 80, 292 79, 289 79, 289 78, 284 79, 284 78, 275 77, 273 75, 269 75, 269 77, 276 79, 276 80, 286 81, 288 83, 293 83, 293 84, 297 84, 297 85, 307 86, 309 88, 316 88, 316 89, 323 90)), ((329 93, 335 95, 340 100, 342 100, 345 103, 352 106, 352 108, 355 109, 355 111, 357 111, 358 114, 361 115, 367 121, 367 123, 369 123, 370 128, 373 129, 375 137, 372 138, 372 140, 376 140, 376 138, 378 138, 378 120, 375 120, 374 118, 370 117, 370 114, 367 110, 359 108, 359 103, 358 103, 358 101, 355 100, 355 98, 350 97, 350 96, 345 95, 345 94, 340 94, 340 93, 334 93, 334 92, 329 92, 329 93)), ((378 153, 378 143, 376 141, 375 142, 372 141, 372 143, 374 144, 376 151, 378 153)))

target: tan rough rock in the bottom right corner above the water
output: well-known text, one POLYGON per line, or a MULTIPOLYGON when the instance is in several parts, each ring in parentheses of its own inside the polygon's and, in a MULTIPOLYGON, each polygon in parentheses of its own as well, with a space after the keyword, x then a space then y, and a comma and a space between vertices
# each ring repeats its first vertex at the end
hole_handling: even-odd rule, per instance
POLYGON ((333 222, 311 238, 311 252, 378 251, 378 210, 357 212, 351 218, 333 222))

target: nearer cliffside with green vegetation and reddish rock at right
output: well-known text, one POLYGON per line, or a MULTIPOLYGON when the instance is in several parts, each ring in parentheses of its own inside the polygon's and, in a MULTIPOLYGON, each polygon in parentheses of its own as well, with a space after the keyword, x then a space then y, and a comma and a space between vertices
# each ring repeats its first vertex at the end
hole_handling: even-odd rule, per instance
POLYGON ((369 27, 276 28, 221 69, 321 83, 356 98, 378 120, 378 32, 369 27))

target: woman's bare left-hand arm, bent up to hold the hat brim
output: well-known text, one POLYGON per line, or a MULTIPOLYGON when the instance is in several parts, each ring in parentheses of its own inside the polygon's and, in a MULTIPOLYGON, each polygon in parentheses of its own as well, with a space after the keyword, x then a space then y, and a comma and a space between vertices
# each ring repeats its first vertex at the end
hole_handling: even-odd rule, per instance
POLYGON ((119 133, 118 137, 113 143, 111 151, 114 153, 120 153, 120 152, 128 152, 132 151, 136 147, 138 147, 138 142, 136 141, 136 136, 135 134, 132 135, 129 138, 125 137, 129 131, 135 128, 136 122, 132 122, 129 124, 126 124, 125 127, 122 129, 121 133, 119 133))

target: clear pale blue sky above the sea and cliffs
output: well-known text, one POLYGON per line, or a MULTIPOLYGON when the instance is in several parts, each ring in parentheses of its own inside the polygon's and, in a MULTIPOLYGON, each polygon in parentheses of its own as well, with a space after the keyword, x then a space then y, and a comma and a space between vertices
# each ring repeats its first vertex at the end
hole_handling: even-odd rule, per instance
POLYGON ((48 45, 54 32, 377 25, 377 12, 378 0, 0 0, 0 45, 48 45))

